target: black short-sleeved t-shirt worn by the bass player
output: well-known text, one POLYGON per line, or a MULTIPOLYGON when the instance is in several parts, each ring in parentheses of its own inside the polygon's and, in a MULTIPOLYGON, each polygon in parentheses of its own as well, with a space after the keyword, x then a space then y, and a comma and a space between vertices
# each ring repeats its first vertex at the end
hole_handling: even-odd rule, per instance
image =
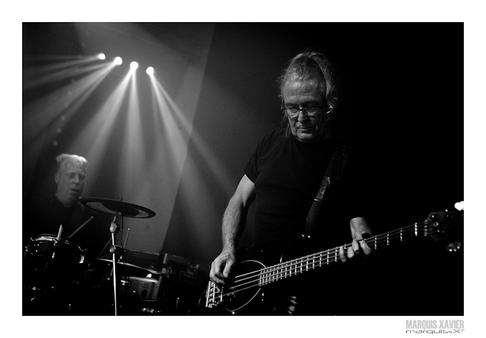
MULTIPOLYGON (((343 142, 331 136, 323 141, 302 143, 294 137, 285 137, 281 128, 264 136, 244 167, 245 175, 255 184, 255 249, 286 247, 302 237, 305 219, 330 158, 343 142)), ((333 199, 323 206, 313 232, 324 249, 351 240, 349 220, 364 216, 349 175, 333 183, 333 199)))

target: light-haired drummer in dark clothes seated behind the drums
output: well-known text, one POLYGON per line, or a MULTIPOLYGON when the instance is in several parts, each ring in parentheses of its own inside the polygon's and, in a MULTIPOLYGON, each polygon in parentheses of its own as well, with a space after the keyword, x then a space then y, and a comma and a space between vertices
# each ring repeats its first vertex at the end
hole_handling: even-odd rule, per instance
POLYGON ((23 244, 41 234, 73 240, 86 249, 86 258, 99 258, 110 244, 110 221, 80 202, 87 177, 87 160, 76 154, 56 157, 56 193, 33 197, 24 202, 23 244))

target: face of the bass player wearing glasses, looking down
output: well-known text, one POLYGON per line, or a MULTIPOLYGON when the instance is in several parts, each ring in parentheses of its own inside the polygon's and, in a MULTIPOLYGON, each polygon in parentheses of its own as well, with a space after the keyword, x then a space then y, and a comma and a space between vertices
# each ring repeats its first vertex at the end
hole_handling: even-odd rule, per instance
MULTIPOLYGON (((285 84, 282 94, 285 108, 321 107, 326 102, 324 95, 319 91, 318 84, 313 81, 289 81, 285 84)), ((324 134, 329 121, 329 115, 326 114, 325 109, 325 107, 320 109, 315 116, 307 116, 304 112, 299 112, 294 117, 287 114, 290 130, 297 140, 314 142, 324 134)))

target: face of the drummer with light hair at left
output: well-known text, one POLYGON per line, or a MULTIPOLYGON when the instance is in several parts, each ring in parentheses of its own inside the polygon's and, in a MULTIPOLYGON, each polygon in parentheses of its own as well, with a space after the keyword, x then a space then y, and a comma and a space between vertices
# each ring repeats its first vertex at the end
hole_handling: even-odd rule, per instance
POLYGON ((56 196, 65 206, 76 203, 85 189, 86 166, 80 161, 66 161, 56 174, 56 196))

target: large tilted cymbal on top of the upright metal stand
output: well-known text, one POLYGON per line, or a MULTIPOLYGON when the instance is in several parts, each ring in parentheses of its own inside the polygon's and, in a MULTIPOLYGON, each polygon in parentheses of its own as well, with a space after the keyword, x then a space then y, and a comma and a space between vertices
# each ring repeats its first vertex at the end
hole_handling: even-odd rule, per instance
POLYGON ((121 215, 123 217, 150 218, 156 215, 156 213, 148 208, 122 202, 117 199, 85 197, 81 198, 80 202, 88 208, 101 211, 102 213, 121 215))

